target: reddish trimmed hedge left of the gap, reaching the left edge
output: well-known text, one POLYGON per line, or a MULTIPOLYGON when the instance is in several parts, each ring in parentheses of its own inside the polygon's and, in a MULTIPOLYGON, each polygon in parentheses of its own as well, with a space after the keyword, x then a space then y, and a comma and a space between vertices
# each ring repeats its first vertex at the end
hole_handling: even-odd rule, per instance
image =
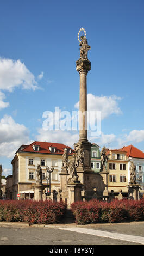
POLYGON ((0 200, 0 221, 22 221, 29 224, 57 223, 65 216, 66 204, 51 200, 0 200))

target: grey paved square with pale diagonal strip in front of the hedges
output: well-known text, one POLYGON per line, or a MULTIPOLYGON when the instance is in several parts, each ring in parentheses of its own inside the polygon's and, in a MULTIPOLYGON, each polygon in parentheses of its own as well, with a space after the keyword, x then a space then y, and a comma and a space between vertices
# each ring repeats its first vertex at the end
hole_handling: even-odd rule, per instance
MULTIPOLYGON (((144 222, 32 225, 0 222, 0 245, 142 245, 144 222), (86 232, 86 233, 85 233, 86 232), (104 232, 104 233, 103 233, 104 232), (118 236, 117 236, 118 233, 118 236), (126 241, 124 237, 135 237, 126 241), (110 238, 111 237, 111 238, 110 238), (121 240, 124 239, 124 240, 121 240)), ((144 242, 143 242, 144 243, 144 242)))

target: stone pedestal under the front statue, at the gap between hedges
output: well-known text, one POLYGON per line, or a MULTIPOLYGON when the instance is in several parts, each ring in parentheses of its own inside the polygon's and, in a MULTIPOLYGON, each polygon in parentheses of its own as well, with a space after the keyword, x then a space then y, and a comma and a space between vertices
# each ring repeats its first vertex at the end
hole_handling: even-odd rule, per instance
POLYGON ((83 184, 80 181, 71 181, 67 184, 68 199, 67 208, 71 207, 71 204, 82 200, 81 191, 83 190, 83 184))

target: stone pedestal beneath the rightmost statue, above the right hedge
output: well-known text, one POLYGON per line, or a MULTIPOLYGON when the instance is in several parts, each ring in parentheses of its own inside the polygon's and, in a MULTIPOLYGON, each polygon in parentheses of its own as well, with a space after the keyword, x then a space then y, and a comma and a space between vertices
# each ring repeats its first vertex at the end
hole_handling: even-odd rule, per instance
POLYGON ((128 199, 129 200, 140 200, 139 198, 139 188, 140 185, 132 182, 129 182, 128 185, 128 199))

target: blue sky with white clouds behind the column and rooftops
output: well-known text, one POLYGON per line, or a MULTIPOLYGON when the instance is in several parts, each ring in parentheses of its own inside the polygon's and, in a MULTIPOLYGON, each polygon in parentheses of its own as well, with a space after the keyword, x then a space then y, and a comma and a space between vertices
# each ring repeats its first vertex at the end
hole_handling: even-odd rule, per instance
POLYGON ((74 111, 79 101, 77 34, 91 46, 87 94, 102 107, 101 147, 144 150, 142 0, 5 0, 0 9, 0 161, 11 174, 14 152, 35 140, 73 145, 78 132, 42 131, 44 111, 74 111), (39 75, 41 75, 39 77, 39 75))

